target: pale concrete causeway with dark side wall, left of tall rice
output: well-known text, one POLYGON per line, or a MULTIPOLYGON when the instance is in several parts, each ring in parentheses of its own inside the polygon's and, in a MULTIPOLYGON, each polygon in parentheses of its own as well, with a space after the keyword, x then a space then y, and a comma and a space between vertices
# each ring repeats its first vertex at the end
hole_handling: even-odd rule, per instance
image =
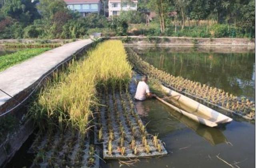
MULTIPOLYGON (((71 60, 74 56, 82 55, 88 47, 91 47, 92 43, 92 40, 68 43, 14 65, 0 73, 0 88, 12 95, 16 100, 22 101, 36 89, 35 87, 38 86, 39 88, 44 83, 46 80, 44 78, 45 75, 51 75, 58 67, 61 67, 59 65, 71 60)), ((15 99, 0 92, 0 115, 19 104, 15 99)), ((26 105, 27 101, 22 104, 26 105)), ((22 119, 24 114, 26 114, 26 107, 20 105, 7 115, 14 115, 20 121, 24 121, 22 119)), ((16 127, 16 130, 9 134, 4 142, 0 144, 0 166, 3 166, 14 156, 15 152, 34 130, 30 121, 18 124, 16 127)))

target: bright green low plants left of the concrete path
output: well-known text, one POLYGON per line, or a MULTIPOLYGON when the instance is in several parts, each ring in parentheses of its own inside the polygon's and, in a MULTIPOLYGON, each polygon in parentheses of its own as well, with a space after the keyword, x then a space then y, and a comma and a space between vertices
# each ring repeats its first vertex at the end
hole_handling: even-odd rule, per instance
POLYGON ((26 59, 32 58, 40 53, 50 50, 51 48, 33 48, 33 49, 24 49, 17 51, 15 53, 6 54, 0 56, 0 71, 7 69, 15 64, 21 63, 26 59))

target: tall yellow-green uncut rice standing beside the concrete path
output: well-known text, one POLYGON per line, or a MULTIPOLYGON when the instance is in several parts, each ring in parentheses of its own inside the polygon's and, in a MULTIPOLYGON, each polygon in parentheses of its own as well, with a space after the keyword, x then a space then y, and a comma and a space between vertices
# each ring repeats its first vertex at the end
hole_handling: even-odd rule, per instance
POLYGON ((89 51, 88 58, 73 62, 67 72, 55 76, 39 94, 30 109, 39 128, 51 131, 58 123, 64 130, 71 126, 84 136, 97 101, 97 87, 128 83, 132 67, 121 41, 110 40, 89 51), (64 128, 65 127, 65 128, 64 128))

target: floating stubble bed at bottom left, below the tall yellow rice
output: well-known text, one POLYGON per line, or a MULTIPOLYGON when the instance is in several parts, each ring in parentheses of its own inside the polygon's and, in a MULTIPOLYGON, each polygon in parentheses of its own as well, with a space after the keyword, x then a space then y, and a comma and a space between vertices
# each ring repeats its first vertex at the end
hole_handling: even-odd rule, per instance
POLYGON ((99 167, 99 150, 82 140, 77 131, 38 134, 29 152, 36 153, 34 167, 99 167))

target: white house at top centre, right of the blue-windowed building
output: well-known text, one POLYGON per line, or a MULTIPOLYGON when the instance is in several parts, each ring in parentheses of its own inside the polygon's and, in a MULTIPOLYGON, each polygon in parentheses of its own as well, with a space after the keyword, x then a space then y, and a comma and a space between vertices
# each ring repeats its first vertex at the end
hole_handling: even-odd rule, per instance
POLYGON ((121 11, 137 10, 137 0, 108 0, 108 15, 120 15, 121 11))

